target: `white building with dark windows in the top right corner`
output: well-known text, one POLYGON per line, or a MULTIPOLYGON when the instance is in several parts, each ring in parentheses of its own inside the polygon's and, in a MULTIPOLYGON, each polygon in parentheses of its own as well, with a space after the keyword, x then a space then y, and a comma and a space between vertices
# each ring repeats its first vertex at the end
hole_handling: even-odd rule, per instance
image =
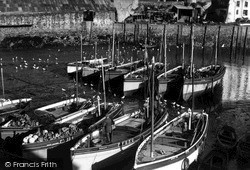
POLYGON ((236 19, 250 19, 250 0, 230 0, 226 22, 235 22, 236 19))

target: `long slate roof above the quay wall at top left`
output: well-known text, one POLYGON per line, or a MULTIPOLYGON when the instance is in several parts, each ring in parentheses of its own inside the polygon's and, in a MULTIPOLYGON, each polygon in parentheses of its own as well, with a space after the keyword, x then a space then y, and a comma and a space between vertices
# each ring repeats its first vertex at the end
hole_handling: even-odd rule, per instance
POLYGON ((0 12, 115 11, 110 0, 2 0, 0 12))

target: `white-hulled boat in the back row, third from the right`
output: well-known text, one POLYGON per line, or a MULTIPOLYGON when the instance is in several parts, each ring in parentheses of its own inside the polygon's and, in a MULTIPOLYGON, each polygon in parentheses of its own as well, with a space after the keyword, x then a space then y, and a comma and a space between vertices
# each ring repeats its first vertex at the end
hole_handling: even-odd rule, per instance
MULTIPOLYGON (((124 75, 123 94, 124 96, 132 95, 138 90, 145 88, 148 82, 148 74, 152 71, 152 64, 136 69, 124 75)), ((163 63, 155 63, 155 74, 158 75, 163 70, 163 63)))

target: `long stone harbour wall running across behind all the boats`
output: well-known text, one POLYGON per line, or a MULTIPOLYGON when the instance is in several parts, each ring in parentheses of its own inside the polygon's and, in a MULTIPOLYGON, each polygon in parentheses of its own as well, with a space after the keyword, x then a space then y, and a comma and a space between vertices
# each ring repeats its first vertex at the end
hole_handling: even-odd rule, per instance
MULTIPOLYGON (((93 22, 84 21, 83 12, 68 13, 6 13, 0 17, 0 41, 3 48, 42 47, 44 45, 79 45, 82 34, 85 42, 107 42, 115 29, 121 42, 144 43, 147 37, 152 43, 162 42, 165 33, 167 43, 190 43, 190 24, 116 23, 114 11, 97 12, 93 22)), ((237 25, 194 25, 196 46, 249 48, 248 27, 237 25)))

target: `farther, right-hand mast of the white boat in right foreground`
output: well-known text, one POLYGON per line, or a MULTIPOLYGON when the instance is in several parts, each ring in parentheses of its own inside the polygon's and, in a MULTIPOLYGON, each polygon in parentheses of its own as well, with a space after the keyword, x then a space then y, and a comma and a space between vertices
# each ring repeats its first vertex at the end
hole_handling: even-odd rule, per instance
POLYGON ((191 122, 192 122, 192 115, 194 110, 194 30, 193 24, 191 25, 191 80, 192 80, 192 108, 191 108, 191 115, 189 117, 189 124, 188 129, 191 130, 191 122))

